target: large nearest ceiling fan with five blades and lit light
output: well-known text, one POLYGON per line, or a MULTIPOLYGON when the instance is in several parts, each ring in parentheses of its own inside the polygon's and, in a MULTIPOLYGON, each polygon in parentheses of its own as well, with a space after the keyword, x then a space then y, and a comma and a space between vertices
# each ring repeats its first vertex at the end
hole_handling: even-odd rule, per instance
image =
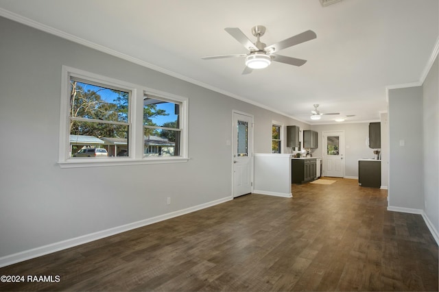
POLYGON ((292 47, 294 45, 298 45, 302 42, 307 42, 308 40, 313 40, 317 37, 316 33, 312 30, 307 30, 306 32, 302 32, 301 34, 297 34, 296 36, 292 36, 291 38, 287 38, 282 40, 281 42, 277 42, 274 45, 267 46, 259 39, 263 34, 265 34, 265 27, 262 25, 257 25, 252 27, 252 34, 256 36, 256 42, 252 42, 241 29, 237 27, 226 27, 224 29, 230 36, 233 36, 235 40, 240 42, 246 49, 250 51, 250 53, 239 53, 234 55, 222 55, 222 56, 209 56, 202 57, 203 60, 211 60, 211 59, 222 59, 222 58, 235 58, 235 57, 246 57, 246 68, 242 72, 243 74, 252 73, 253 69, 263 69, 274 62, 281 62, 293 66, 302 66, 307 62, 307 60, 281 56, 277 55, 277 51, 281 51, 281 49, 286 49, 288 47, 292 47))

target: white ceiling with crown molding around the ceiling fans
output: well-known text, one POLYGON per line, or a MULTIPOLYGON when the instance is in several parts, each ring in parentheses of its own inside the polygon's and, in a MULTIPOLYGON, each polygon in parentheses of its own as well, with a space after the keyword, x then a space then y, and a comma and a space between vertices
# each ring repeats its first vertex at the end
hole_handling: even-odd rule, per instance
POLYGON ((355 114, 345 123, 378 120, 386 86, 423 81, 439 40, 438 0, 327 7, 319 0, 0 0, 0 15, 311 124, 313 104, 355 114), (308 62, 241 75, 244 58, 201 60, 247 53, 224 28, 255 40, 254 25, 267 27, 267 45, 312 29, 316 39, 279 52, 308 62))

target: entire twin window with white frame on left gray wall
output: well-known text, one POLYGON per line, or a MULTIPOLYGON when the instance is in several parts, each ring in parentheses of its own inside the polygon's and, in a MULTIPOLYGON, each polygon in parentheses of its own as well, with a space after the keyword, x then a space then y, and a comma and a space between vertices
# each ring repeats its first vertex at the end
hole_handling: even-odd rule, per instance
POLYGON ((58 163, 185 162, 188 104, 185 97, 63 66, 58 163))

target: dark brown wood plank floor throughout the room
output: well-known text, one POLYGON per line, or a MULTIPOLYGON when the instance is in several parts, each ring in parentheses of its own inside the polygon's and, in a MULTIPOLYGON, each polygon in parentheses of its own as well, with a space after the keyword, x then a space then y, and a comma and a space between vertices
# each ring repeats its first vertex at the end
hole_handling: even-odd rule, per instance
POLYGON ((2 291, 438 291, 438 245, 420 215, 386 210, 357 180, 246 195, 3 267, 2 291))

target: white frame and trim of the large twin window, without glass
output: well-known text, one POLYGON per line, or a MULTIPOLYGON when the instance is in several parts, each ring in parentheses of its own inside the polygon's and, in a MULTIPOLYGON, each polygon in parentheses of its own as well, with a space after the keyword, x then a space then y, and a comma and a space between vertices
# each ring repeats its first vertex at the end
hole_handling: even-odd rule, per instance
POLYGON ((188 106, 189 99, 187 97, 180 97, 163 91, 153 90, 145 86, 123 82, 110 77, 89 73, 80 69, 75 69, 70 66, 62 66, 61 75, 61 102, 60 102, 60 136, 59 136, 59 151, 58 151, 58 165, 61 168, 72 167, 105 167, 117 165, 143 165, 156 163, 173 163, 173 162, 187 162, 188 157, 188 106), (129 123, 129 157, 109 157, 109 158, 81 158, 74 159, 69 156, 69 109, 70 109, 70 80, 71 77, 81 80, 82 82, 89 82, 109 88, 118 88, 123 91, 130 92, 130 99, 128 101, 128 117, 129 123), (180 109, 180 156, 167 157, 144 157, 143 156, 143 97, 145 94, 155 95, 169 101, 178 101, 182 104, 180 109))

